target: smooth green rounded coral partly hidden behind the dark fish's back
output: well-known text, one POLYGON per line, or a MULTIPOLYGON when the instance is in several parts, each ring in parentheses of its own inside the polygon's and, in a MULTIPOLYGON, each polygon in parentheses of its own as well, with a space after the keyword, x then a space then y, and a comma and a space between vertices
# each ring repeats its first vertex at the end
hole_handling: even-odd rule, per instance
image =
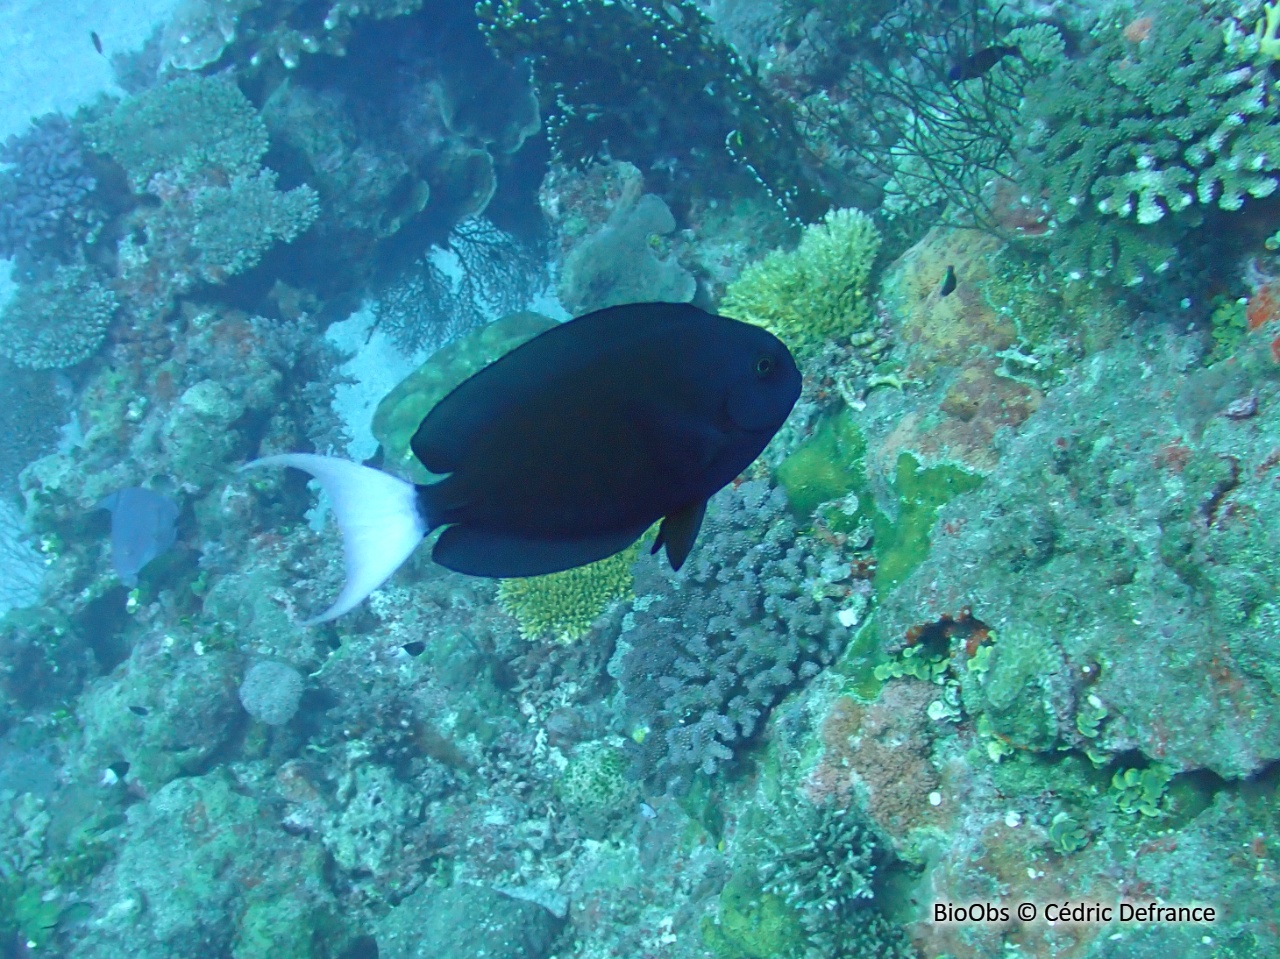
POLYGON ((415 483, 429 481, 431 474, 408 446, 422 417, 462 380, 554 325, 541 314, 513 312, 433 353, 374 412, 374 437, 383 446, 387 467, 415 483))

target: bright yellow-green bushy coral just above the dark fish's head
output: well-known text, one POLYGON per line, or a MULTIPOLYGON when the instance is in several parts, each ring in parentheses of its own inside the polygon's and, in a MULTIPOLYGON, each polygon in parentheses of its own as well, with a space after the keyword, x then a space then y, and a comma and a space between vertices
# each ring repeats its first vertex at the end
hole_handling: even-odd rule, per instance
POLYGON ((728 284, 719 311, 774 333, 804 357, 867 328, 881 234, 861 210, 832 210, 792 251, 776 250, 728 284))

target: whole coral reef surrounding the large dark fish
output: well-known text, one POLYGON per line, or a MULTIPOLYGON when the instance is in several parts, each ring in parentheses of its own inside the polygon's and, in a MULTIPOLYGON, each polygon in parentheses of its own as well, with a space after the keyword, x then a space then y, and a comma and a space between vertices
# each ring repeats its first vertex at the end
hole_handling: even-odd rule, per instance
POLYGON ((4 154, 0 351, 56 369, 0 369, 0 954, 1275 955, 1280 14, 1193 8, 184 3, 131 100, 4 154), (1142 302, 1193 305, 1071 282, 1094 241, 1176 242, 1142 302), (365 410, 448 343, 369 460, 429 483, 410 437, 556 323, 485 323, 548 277, 723 292, 800 353, 786 428, 678 572, 421 549, 301 626, 340 540, 237 467, 364 430, 335 343, 372 310, 337 321, 394 334, 342 341, 365 410), (125 584, 128 488, 178 508, 125 584), (934 910, 1066 900, 1219 914, 934 910))

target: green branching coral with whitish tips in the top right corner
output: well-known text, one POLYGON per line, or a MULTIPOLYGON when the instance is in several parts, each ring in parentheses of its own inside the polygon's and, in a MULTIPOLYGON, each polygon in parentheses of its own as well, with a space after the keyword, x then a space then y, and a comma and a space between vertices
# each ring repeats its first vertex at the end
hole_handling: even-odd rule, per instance
POLYGON ((1117 12, 1097 46, 1033 82, 1016 143, 1024 192, 1066 228, 1061 259, 1126 284, 1166 270, 1207 209, 1280 184, 1270 60, 1257 36, 1169 4, 1139 40, 1117 12))

